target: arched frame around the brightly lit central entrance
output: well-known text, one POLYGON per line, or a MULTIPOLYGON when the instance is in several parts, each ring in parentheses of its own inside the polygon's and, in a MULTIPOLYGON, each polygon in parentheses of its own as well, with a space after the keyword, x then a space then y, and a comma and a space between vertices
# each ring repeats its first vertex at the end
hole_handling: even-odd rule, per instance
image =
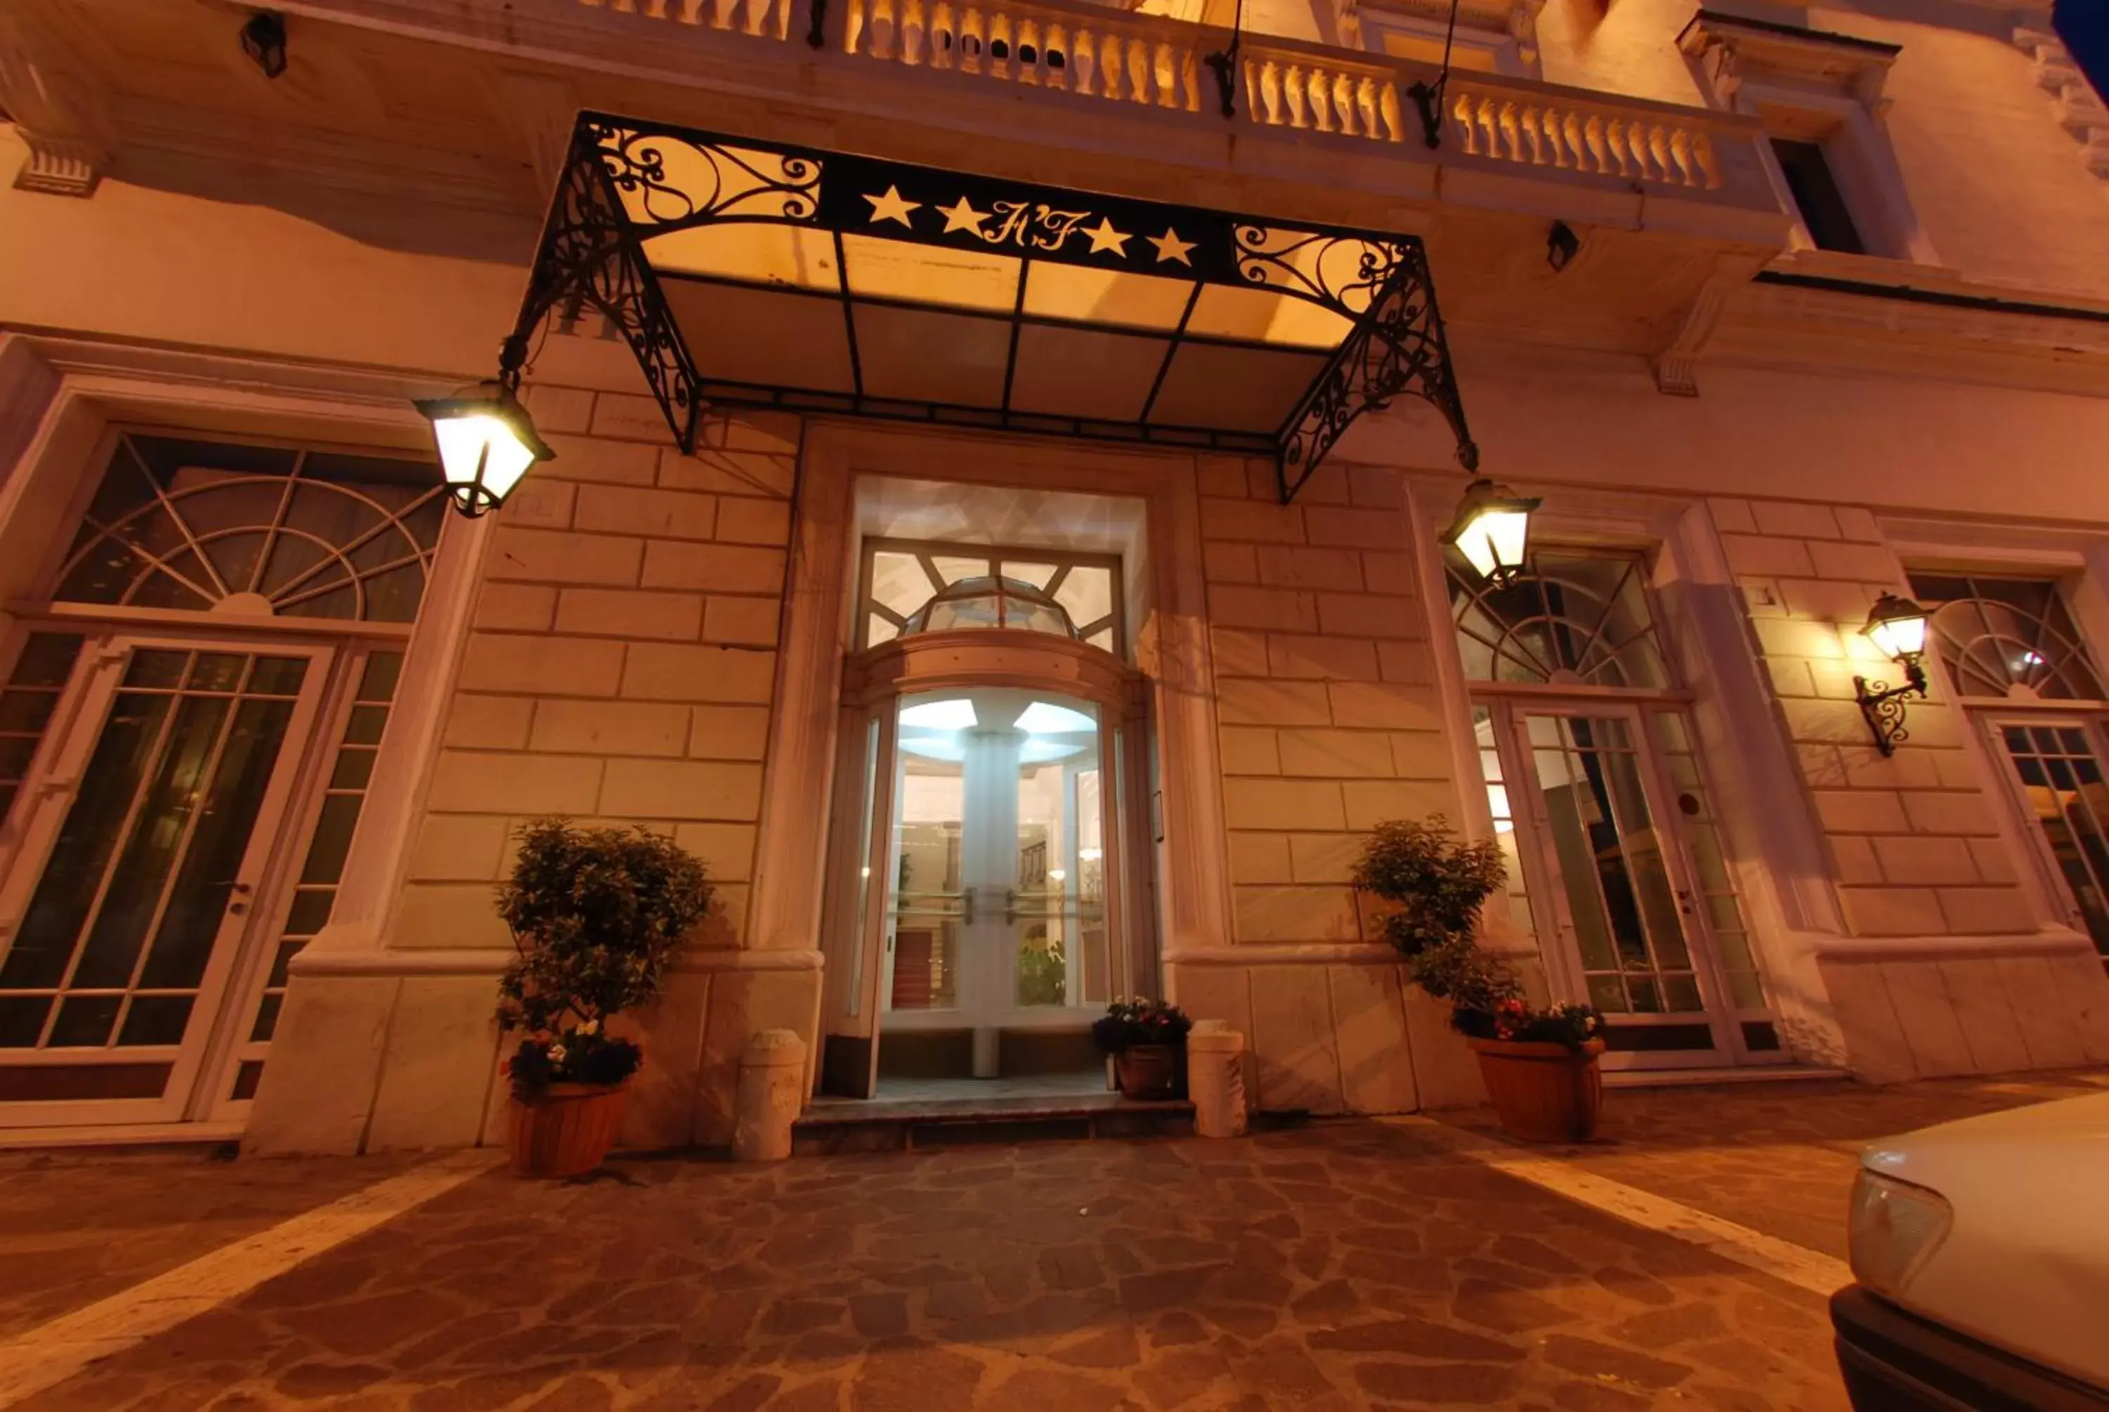
MULTIPOLYGON (((1143 673, 1101 648, 1052 633, 962 629, 894 637, 848 656, 841 671, 841 749, 835 768, 835 808, 827 846, 829 874, 820 912, 820 952, 829 977, 823 988, 823 1055, 814 1066, 816 1093, 848 1087, 869 1098, 875 1091, 884 1030, 879 984, 888 971, 884 878, 892 857, 894 789, 890 766, 898 756, 894 747, 898 703, 903 697, 922 692, 976 686, 1071 697, 1099 707, 1099 768, 1105 770, 1101 846, 1107 863, 1105 918, 1111 933, 1107 975, 1135 973, 1149 927, 1149 918, 1139 905, 1147 897, 1147 886, 1137 884, 1137 876, 1149 867, 1149 859, 1135 857, 1133 840, 1139 834, 1128 827, 1128 815, 1143 808, 1137 766, 1147 751, 1135 749, 1137 737, 1147 726, 1147 680, 1143 673), (869 836, 865 836, 865 827, 869 827, 869 836), (860 840, 865 846, 858 846, 860 840), (852 874, 854 867, 871 872, 858 878, 852 874), (860 889, 858 884, 867 880, 877 880, 879 886, 860 889), (863 903, 852 910, 850 899, 858 895, 863 903), (865 1051, 867 1043, 869 1051, 865 1051)), ((1120 988, 1120 981, 1114 979, 1114 986, 1120 988)), ((1069 1024, 1076 1024, 1076 1017, 1065 1013, 1023 1022, 1019 1028, 1065 1028, 1069 1024)))

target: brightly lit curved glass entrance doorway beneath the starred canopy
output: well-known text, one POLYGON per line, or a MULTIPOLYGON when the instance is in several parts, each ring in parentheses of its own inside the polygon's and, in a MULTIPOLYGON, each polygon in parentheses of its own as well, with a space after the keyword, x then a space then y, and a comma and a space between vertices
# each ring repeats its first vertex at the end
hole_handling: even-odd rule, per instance
POLYGON ((1103 608, 968 568, 846 667, 825 1093, 1103 1085, 1090 1022, 1154 973, 1122 867, 1139 678, 1080 631, 1111 640, 1103 608))

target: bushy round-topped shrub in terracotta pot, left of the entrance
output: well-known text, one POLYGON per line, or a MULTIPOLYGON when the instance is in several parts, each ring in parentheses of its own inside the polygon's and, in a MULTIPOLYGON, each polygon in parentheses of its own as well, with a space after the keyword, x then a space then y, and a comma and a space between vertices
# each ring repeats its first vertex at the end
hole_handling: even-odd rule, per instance
POLYGON ((643 829, 536 819, 519 832, 498 914, 517 956, 498 981, 498 1024, 521 1034, 512 1167, 578 1176, 607 1157, 643 1049, 607 1022, 658 994, 666 962, 711 908, 702 863, 643 829))

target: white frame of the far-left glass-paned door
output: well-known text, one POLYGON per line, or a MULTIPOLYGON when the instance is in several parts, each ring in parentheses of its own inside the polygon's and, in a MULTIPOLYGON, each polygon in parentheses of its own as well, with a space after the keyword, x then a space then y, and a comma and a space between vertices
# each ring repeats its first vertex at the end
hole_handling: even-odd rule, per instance
MULTIPOLYGON (((278 760, 272 766, 264 800, 243 851, 240 874, 249 880, 249 910, 240 924, 232 927, 221 916, 219 933, 205 973, 198 979, 196 1000, 183 1041, 177 1045, 133 1047, 122 1051, 129 1062, 173 1064, 162 1095, 154 1100, 21 1100, 0 1102, 0 1131, 17 1127, 95 1127, 124 1123, 179 1123, 202 1117, 213 1108, 209 1093, 219 1093, 232 1081, 228 1068, 226 1034, 243 1024, 234 1000, 251 996, 253 971, 266 950, 264 937, 274 933, 289 905, 285 878, 295 865, 297 846, 306 842, 306 829, 287 827, 289 821, 306 817, 312 794, 314 758, 318 751, 318 722, 327 720, 329 705, 342 692, 344 644, 327 635, 285 637, 278 633, 255 633, 243 629, 215 631, 209 623, 171 625, 158 629, 139 623, 21 623, 25 631, 82 631, 84 642, 72 678, 59 697, 53 718, 38 745, 32 772, 23 781, 15 817, 19 827, 8 832, 6 848, 0 853, 0 924, 13 933, 21 912, 27 908, 51 848, 78 798, 78 787, 116 694, 122 690, 122 669, 135 650, 207 650, 243 652, 251 656, 306 656, 310 667, 302 680, 293 715, 287 720, 278 760)), ((114 859, 112 859, 114 861, 114 859)), ((108 876, 108 874, 105 874, 108 876)), ((76 937, 78 943, 78 937, 76 937)), ((0 1053, 0 1064, 8 1066, 61 1066, 82 1064, 89 1053, 116 1055, 114 1045, 99 1051, 86 1049, 34 1049, 0 1053)), ((108 1060, 116 1062, 116 1060, 108 1060)))

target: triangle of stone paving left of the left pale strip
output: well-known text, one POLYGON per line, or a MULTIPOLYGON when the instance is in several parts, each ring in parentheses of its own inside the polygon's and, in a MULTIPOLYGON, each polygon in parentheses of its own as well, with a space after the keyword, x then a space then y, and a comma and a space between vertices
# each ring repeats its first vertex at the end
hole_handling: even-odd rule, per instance
POLYGON ((0 1340, 394 1176, 407 1161, 0 1152, 0 1340))

